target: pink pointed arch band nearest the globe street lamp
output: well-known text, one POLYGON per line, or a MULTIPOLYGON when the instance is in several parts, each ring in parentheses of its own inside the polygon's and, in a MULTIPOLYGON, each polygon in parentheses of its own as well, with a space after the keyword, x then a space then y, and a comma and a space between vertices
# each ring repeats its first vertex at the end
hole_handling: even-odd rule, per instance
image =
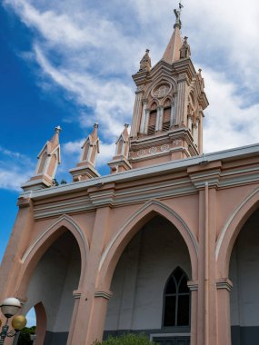
POLYGON ((20 279, 17 281, 17 294, 19 296, 25 296, 25 291, 28 285, 28 281, 35 269, 37 262, 41 259, 45 251, 51 246, 55 240, 58 239, 65 231, 72 232, 75 236, 75 240, 79 246, 81 254, 81 274, 79 281, 79 289, 84 279, 85 267, 86 267, 86 254, 89 249, 88 241, 85 237, 85 233, 75 220, 68 216, 63 215, 48 226, 45 231, 33 242, 25 251, 21 262, 22 269, 20 273, 20 279))

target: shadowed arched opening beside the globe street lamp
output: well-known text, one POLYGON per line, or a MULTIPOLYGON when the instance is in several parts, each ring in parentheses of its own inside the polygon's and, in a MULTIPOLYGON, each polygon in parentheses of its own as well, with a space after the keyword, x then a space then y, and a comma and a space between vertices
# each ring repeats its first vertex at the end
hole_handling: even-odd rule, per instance
POLYGON ((81 254, 72 232, 61 233, 37 262, 26 290, 25 312, 35 306, 37 345, 65 345, 70 329, 81 254))

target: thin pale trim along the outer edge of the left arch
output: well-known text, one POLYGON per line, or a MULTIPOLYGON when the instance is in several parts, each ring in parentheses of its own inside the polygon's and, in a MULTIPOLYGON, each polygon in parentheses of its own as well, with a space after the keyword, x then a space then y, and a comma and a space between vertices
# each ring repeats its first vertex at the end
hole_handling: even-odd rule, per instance
MULTIPOLYGON (((25 263, 25 261, 27 260, 28 256, 30 255, 30 253, 35 249, 35 247, 37 246, 37 244, 45 237, 45 234, 47 232, 50 232, 59 222, 62 221, 67 221, 70 222, 72 225, 75 226, 75 230, 79 233, 80 237, 82 238, 84 244, 85 244, 85 252, 88 251, 88 243, 85 240, 85 236, 84 236, 84 232, 82 232, 81 228, 79 227, 79 225, 74 221, 74 219, 72 219, 71 217, 69 217, 67 214, 63 215, 62 217, 58 218, 55 222, 53 222, 51 225, 49 225, 47 227, 47 229, 45 230, 45 232, 43 232, 36 240, 35 242, 33 242, 29 248, 25 251, 21 262, 25 263)), ((69 231, 69 229, 68 229, 69 231)))

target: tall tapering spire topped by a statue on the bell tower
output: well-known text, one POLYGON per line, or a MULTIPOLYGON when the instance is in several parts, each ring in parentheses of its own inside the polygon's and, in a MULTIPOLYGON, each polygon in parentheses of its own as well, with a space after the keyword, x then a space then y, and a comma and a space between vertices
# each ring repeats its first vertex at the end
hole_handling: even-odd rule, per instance
POLYGON ((169 44, 166 46, 162 60, 167 64, 174 64, 175 61, 180 60, 180 49, 182 47, 182 38, 180 29, 182 27, 181 22, 181 9, 183 5, 179 3, 179 9, 174 9, 175 24, 174 32, 170 38, 169 44))

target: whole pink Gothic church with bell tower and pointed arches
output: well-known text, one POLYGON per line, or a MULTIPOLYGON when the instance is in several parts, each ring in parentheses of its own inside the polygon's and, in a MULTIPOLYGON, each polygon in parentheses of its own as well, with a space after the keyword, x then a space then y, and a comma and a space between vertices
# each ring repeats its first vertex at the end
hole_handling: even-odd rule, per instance
POLYGON ((73 182, 53 186, 56 127, 22 186, 0 298, 35 308, 36 345, 125 332, 161 345, 257 343, 259 144, 203 154, 204 79, 174 13, 162 59, 152 66, 146 50, 133 75, 111 173, 95 169, 95 123, 73 182))

